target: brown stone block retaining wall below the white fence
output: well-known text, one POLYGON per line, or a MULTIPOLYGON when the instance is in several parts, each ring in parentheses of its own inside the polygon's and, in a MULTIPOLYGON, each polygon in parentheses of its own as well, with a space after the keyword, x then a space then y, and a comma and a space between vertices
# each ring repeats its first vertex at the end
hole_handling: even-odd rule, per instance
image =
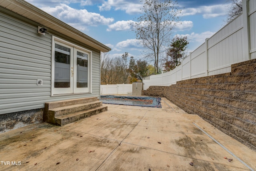
POLYGON ((256 59, 231 68, 231 73, 150 86, 142 93, 166 97, 256 151, 256 59))

